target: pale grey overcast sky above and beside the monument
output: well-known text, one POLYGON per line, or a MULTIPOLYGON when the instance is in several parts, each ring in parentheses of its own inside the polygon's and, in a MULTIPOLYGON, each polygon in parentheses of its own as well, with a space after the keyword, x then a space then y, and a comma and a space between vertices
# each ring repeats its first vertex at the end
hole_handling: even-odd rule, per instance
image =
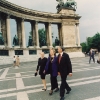
MULTIPOLYGON (((8 1, 17 4, 19 6, 23 6, 33 10, 56 13, 56 5, 57 5, 56 0, 8 0, 8 1)), ((76 13, 82 16, 82 18, 80 19, 80 38, 81 42, 83 42, 86 40, 86 37, 93 36, 95 33, 100 32, 100 0, 75 0, 75 1, 77 2, 76 13)), ((25 27, 27 27, 27 25, 28 23, 25 23, 25 27)), ((55 27, 56 26, 53 26, 53 28, 55 27)))

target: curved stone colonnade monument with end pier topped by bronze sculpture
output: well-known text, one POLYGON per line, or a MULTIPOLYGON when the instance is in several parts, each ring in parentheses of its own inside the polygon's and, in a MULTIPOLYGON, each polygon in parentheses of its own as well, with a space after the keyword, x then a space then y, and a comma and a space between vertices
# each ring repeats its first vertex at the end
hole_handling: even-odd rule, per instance
POLYGON ((51 24, 58 26, 60 43, 56 39, 56 45, 63 46, 70 57, 84 56, 80 46, 79 33, 81 16, 75 13, 77 3, 74 0, 56 1, 58 2, 57 13, 49 13, 0 0, 0 55, 3 57, 0 62, 6 60, 11 63, 14 55, 20 55, 21 61, 37 60, 39 52, 52 47, 51 24), (13 37, 13 43, 11 42, 10 19, 14 19, 17 26, 17 35, 13 37), (28 38, 28 46, 26 46, 24 22, 31 24, 32 37, 28 38), (38 23, 43 23, 46 30, 47 43, 44 43, 42 47, 39 46, 38 23))

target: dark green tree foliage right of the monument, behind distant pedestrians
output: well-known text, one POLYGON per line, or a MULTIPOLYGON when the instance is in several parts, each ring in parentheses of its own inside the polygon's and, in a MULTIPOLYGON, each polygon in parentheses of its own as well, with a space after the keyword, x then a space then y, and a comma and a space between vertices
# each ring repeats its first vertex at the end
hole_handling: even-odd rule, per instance
POLYGON ((91 48, 100 51, 100 33, 96 33, 93 37, 88 37, 86 42, 81 43, 82 51, 89 52, 91 48))

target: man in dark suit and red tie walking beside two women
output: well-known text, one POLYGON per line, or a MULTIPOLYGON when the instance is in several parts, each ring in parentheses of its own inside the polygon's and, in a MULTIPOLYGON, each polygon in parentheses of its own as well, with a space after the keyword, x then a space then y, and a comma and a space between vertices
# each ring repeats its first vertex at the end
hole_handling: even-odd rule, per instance
POLYGON ((62 47, 58 47, 58 75, 61 76, 61 85, 60 85, 60 100, 64 100, 65 89, 67 90, 66 94, 69 94, 71 88, 66 82, 67 75, 72 76, 72 65, 69 58, 69 55, 63 52, 62 47))

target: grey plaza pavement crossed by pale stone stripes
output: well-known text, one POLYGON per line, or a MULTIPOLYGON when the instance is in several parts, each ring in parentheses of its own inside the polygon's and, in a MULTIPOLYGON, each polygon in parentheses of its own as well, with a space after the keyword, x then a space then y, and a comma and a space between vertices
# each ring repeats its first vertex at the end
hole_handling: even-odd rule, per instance
MULTIPOLYGON (((88 63, 88 57, 71 59, 73 76, 68 77, 72 88, 65 100, 100 100, 100 65, 88 63)), ((34 77, 37 62, 21 63, 19 68, 3 65, 0 69, 0 100, 59 100, 59 92, 49 96, 50 79, 46 76, 47 91, 42 82, 34 77)), ((58 83, 60 85, 60 77, 58 83)))

